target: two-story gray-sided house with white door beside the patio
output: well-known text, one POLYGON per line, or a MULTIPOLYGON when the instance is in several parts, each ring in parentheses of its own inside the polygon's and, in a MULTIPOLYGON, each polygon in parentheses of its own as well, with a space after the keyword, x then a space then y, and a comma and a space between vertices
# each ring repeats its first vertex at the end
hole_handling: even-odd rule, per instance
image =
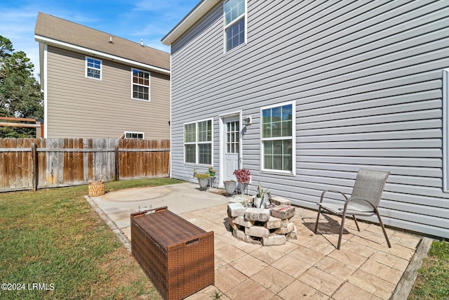
POLYGON ((448 238, 448 24, 445 0, 200 1, 162 39, 171 176, 246 168, 316 209, 386 170, 384 223, 448 238))

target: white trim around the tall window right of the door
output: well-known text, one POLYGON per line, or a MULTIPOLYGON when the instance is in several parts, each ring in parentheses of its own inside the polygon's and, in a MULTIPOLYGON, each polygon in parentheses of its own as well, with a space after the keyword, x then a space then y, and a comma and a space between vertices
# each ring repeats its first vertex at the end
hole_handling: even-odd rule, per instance
MULTIPOLYGON (((268 105, 264 107, 260 107, 260 172, 261 173, 271 173, 271 174, 286 174, 286 175, 296 175, 296 107, 294 101, 277 103, 274 105, 268 105), (274 169, 264 169, 264 145, 263 141, 269 140, 279 140, 279 138, 262 138, 262 112, 263 110, 267 110, 273 107, 281 107, 284 105, 292 105, 292 170, 291 171, 282 171, 282 170, 274 170, 274 169)), ((286 138, 287 139, 287 138, 286 138)), ((288 138, 290 139, 290 137, 288 138)))

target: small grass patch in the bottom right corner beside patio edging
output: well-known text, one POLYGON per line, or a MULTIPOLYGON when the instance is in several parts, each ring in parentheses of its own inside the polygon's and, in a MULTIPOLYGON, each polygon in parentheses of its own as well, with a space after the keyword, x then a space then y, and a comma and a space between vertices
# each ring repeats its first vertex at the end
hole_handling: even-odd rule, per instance
POLYGON ((449 299, 449 242, 432 242, 408 299, 449 299))

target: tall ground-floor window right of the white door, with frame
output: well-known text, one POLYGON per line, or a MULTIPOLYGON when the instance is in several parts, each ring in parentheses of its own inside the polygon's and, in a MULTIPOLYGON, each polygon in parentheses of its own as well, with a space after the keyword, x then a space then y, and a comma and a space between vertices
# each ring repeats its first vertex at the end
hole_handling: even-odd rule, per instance
POLYGON ((293 103, 262 108, 262 171, 295 172, 293 103))

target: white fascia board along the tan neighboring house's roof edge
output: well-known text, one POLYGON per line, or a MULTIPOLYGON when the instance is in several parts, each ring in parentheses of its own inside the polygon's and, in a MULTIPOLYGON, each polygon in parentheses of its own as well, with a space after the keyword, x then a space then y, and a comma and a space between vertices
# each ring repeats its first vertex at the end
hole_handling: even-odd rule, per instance
POLYGON ((166 70, 163 69, 161 67, 154 67, 152 65, 147 65, 145 63, 139 63, 135 60, 130 60, 127 58, 121 58, 119 56, 113 56, 112 54, 108 54, 108 53, 104 53, 104 52, 100 52, 100 51, 95 51, 89 48, 84 48, 81 46, 76 46, 74 44, 69 44, 69 43, 65 43, 64 41, 57 41, 55 39, 49 39, 48 37, 42 37, 40 35, 34 35, 34 39, 36 41, 39 41, 41 43, 45 43, 48 45, 52 45, 52 46, 58 46, 60 48, 65 48, 67 50, 71 50, 71 51, 76 51, 79 53, 84 53, 84 54, 90 54, 90 55, 94 55, 94 56, 98 56, 100 58, 105 58, 106 60, 112 60, 112 61, 116 61, 119 63, 123 63, 126 65, 131 65, 133 67, 140 67, 140 68, 144 68, 146 70, 150 70, 150 71, 154 71, 154 72, 159 72, 161 74, 167 74, 170 75, 170 70, 166 70))

